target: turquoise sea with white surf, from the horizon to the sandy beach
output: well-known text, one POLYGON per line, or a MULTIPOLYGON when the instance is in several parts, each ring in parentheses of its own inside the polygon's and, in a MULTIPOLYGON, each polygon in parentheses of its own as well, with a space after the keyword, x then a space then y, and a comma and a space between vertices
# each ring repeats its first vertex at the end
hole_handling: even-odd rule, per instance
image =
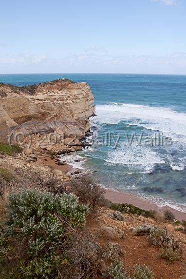
POLYGON ((56 78, 86 81, 95 96, 97 116, 91 119, 94 134, 89 138, 94 143, 78 153, 81 167, 108 188, 172 207, 186 205, 186 76, 29 74, 0 75, 0 82, 30 85, 56 78), (119 137, 116 148, 113 138, 106 144, 108 133, 119 137), (155 133, 161 136, 158 144, 155 133))

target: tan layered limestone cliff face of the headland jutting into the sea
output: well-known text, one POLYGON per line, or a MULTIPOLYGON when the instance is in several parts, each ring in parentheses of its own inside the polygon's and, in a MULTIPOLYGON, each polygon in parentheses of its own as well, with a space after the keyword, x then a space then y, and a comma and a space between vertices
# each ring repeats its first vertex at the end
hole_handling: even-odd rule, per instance
MULTIPOLYGON (((81 139, 94 113, 94 96, 85 82, 60 79, 26 87, 0 84, 0 142, 15 141, 16 133, 27 138, 33 135, 34 148, 41 133, 57 135, 55 145, 63 143, 62 134, 81 139)), ((44 144, 48 145, 46 140, 44 144)))

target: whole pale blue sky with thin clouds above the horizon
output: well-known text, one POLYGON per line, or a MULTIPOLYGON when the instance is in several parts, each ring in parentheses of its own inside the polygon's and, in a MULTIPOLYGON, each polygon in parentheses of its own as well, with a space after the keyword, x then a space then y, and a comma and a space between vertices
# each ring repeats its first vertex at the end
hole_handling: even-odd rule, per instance
POLYGON ((186 0, 1 0, 0 74, 186 74, 186 0))

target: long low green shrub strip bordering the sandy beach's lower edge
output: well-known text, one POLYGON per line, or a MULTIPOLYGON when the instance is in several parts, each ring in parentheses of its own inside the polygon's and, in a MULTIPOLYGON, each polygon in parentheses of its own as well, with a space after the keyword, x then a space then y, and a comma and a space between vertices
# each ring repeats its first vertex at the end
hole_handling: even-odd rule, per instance
POLYGON ((110 203, 109 206, 113 210, 120 211, 121 213, 137 214, 144 217, 156 217, 156 211, 153 210, 143 210, 139 207, 134 206, 133 204, 128 203, 110 203))

